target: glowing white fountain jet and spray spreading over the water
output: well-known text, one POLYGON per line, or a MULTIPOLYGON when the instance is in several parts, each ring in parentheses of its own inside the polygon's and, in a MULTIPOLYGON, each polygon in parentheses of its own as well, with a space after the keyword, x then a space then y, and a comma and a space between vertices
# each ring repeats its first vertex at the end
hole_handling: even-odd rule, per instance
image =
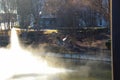
MULTIPOLYGON (((21 74, 64 72, 64 70, 49 67, 45 60, 35 58, 29 51, 23 50, 14 28, 11 30, 10 45, 10 49, 0 48, 0 80, 11 80, 11 77, 21 74)), ((33 80, 32 77, 29 80, 33 80)))

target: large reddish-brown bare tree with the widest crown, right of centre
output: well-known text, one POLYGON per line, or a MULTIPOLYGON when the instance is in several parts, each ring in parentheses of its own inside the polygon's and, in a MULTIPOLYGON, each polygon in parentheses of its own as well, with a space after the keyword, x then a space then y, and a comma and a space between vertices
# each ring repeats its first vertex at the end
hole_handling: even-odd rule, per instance
POLYGON ((104 18, 106 25, 109 26, 109 0, 107 2, 105 0, 65 0, 65 2, 57 14, 60 27, 67 27, 69 30, 78 27, 96 27, 97 20, 101 18, 104 18))

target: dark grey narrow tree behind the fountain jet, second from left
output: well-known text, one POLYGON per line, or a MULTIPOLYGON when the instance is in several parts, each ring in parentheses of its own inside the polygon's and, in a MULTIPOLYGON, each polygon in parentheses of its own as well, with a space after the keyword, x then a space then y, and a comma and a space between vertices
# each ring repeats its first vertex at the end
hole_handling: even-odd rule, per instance
POLYGON ((30 25, 31 0, 17 0, 17 13, 20 16, 21 28, 28 28, 30 25))

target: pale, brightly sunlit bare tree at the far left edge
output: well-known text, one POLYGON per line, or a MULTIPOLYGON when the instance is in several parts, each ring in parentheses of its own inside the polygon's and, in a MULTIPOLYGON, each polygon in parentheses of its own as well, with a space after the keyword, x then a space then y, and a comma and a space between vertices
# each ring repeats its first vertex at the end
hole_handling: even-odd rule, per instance
POLYGON ((12 15, 16 14, 16 0, 1 0, 1 10, 4 13, 4 24, 7 22, 7 29, 10 29, 10 23, 15 20, 12 15))

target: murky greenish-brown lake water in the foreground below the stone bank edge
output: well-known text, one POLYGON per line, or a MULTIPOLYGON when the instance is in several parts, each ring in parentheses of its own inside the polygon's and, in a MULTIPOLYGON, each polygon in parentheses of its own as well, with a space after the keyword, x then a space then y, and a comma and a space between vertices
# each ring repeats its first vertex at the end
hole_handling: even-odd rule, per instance
POLYGON ((21 74, 10 80, 112 80, 112 70, 110 62, 71 60, 71 59, 51 59, 52 67, 66 69, 64 73, 56 74, 21 74), (68 70, 68 71, 67 71, 68 70))

